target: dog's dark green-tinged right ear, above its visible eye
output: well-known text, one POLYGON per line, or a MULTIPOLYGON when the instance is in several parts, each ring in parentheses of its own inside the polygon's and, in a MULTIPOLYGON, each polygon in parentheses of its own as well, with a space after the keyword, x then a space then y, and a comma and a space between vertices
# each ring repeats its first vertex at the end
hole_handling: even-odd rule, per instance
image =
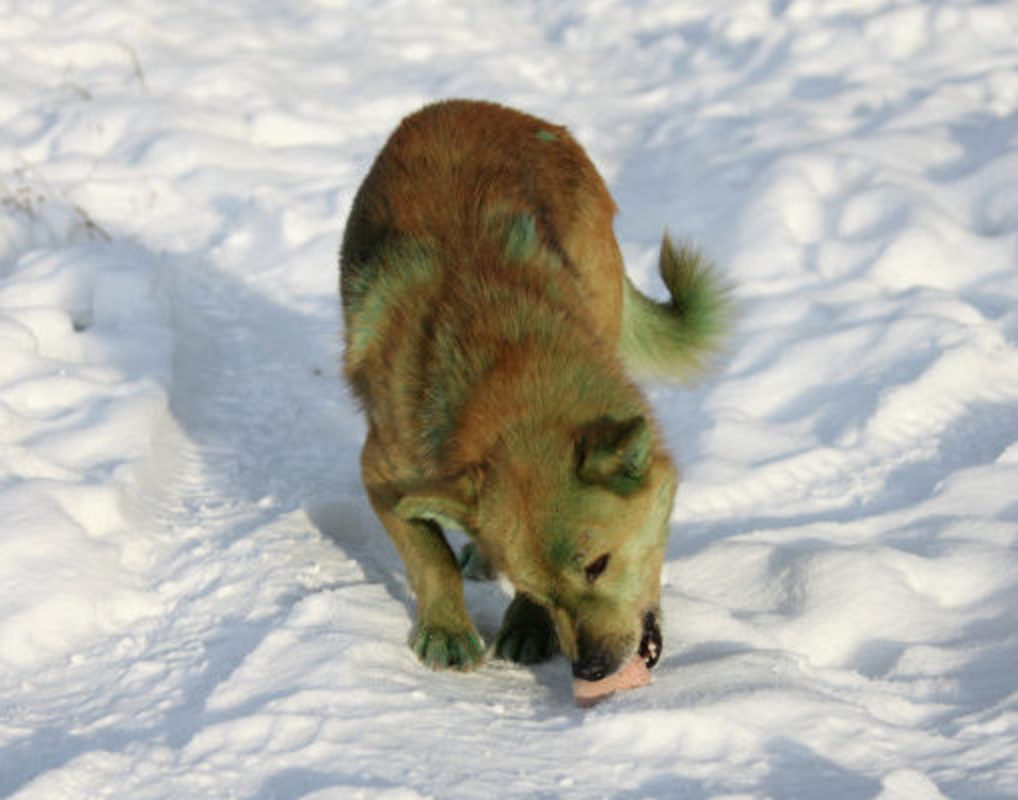
POLYGON ((618 420, 602 416, 576 436, 576 473, 620 495, 635 490, 646 475, 653 432, 643 416, 618 420))

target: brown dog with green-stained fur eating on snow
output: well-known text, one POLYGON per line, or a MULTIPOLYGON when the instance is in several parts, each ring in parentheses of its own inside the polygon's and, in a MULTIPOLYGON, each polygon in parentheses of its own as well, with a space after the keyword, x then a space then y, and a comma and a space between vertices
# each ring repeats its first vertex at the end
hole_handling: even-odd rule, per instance
POLYGON ((597 681, 660 655, 678 474, 626 368, 695 370, 728 301, 667 235, 671 301, 642 295, 615 212, 565 128, 471 101, 406 117, 353 201, 344 373, 367 417, 364 485, 417 599, 411 646, 434 669, 485 652, 449 527, 516 589, 497 656, 561 648, 597 681))

